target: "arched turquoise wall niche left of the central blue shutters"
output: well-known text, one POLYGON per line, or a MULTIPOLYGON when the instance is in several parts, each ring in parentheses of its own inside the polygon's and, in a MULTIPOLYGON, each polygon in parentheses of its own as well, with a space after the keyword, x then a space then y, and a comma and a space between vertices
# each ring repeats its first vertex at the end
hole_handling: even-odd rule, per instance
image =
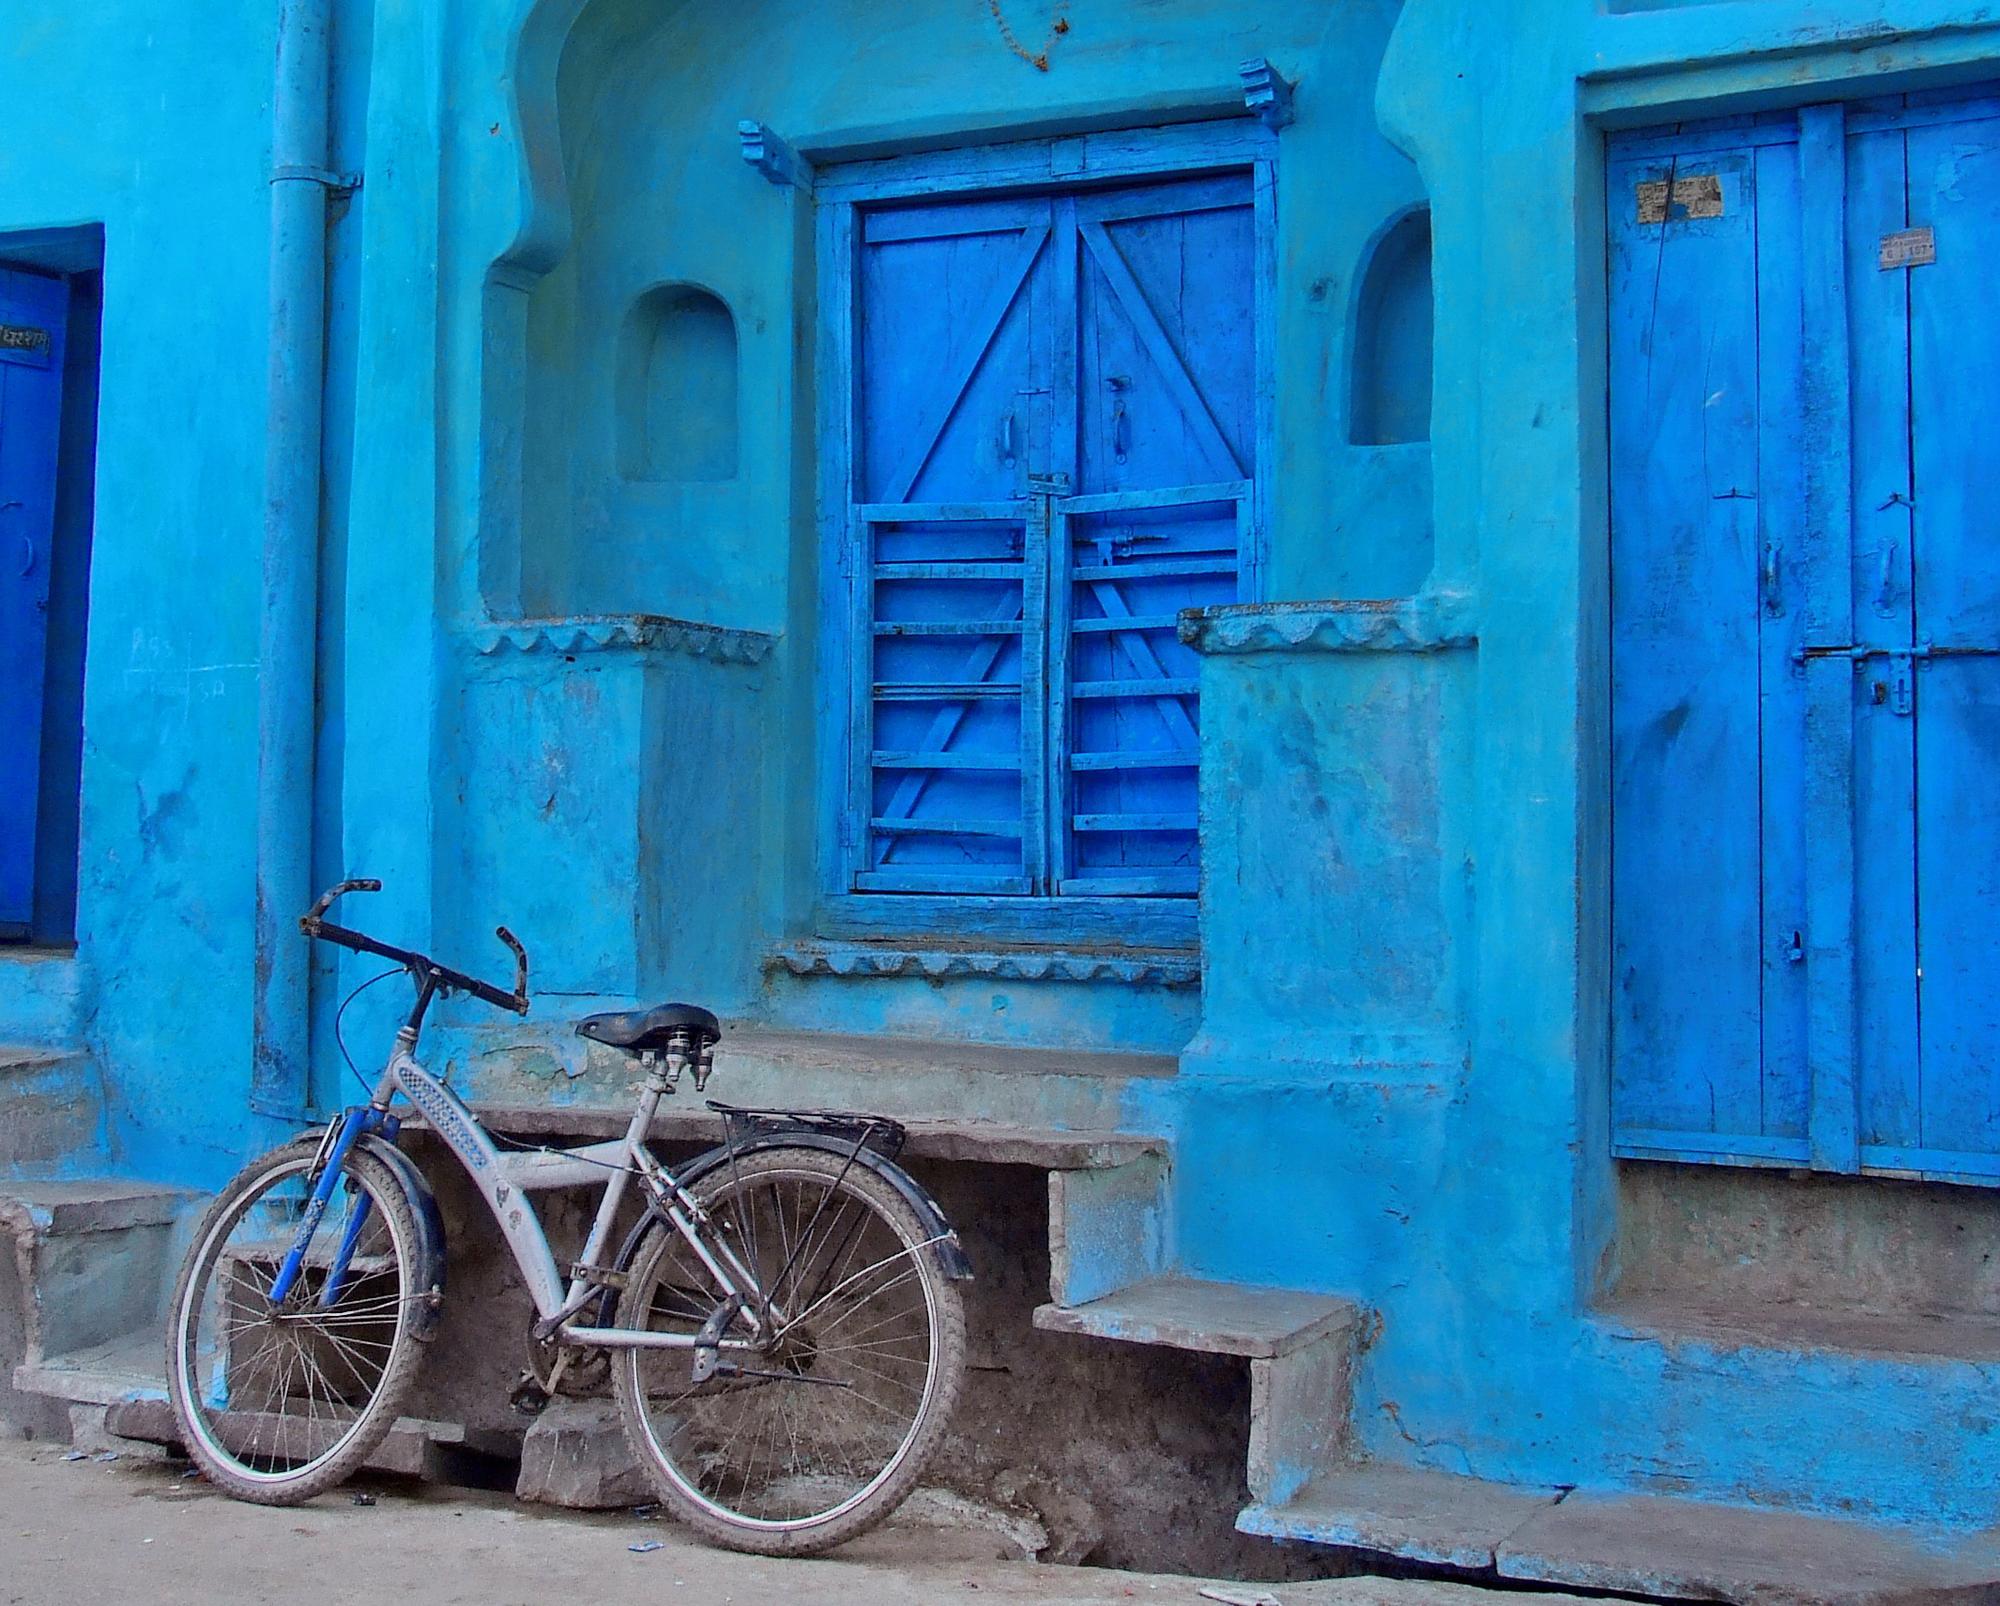
POLYGON ((656 284, 618 332, 618 472, 736 478, 736 318, 696 284, 656 284))

